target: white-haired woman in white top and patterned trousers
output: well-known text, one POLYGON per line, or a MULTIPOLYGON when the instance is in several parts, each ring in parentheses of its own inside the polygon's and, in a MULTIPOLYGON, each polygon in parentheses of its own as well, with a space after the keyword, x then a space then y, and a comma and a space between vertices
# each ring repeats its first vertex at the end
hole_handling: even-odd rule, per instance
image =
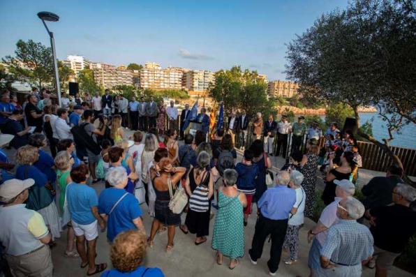
POLYGON ((290 172, 290 188, 296 192, 296 202, 290 211, 288 230, 286 230, 285 242, 283 248, 289 251, 290 257, 285 260, 285 264, 290 265, 297 262, 297 253, 299 251, 299 229, 304 224, 304 210, 306 193, 301 184, 304 181, 304 175, 297 171, 290 172))

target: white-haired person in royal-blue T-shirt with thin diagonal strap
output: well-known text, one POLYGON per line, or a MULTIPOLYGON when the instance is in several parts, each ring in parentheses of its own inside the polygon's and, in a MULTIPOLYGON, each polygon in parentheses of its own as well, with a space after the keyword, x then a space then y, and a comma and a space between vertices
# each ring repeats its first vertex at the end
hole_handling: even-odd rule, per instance
POLYGON ((120 232, 138 229, 145 233, 142 211, 136 197, 126 192, 128 176, 124 167, 111 167, 105 181, 112 186, 101 192, 98 213, 107 221, 107 239, 113 241, 120 232))

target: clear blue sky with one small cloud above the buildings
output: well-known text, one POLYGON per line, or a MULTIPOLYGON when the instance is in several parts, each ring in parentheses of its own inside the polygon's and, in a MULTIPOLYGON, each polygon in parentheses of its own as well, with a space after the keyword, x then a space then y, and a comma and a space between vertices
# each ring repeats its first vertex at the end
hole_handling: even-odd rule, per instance
POLYGON ((66 1, 0 0, 0 57, 15 51, 17 40, 49 46, 37 17, 49 22, 58 59, 70 54, 114 66, 154 61, 163 68, 220 70, 242 66, 286 80, 286 45, 313 22, 347 0, 273 1, 66 1))

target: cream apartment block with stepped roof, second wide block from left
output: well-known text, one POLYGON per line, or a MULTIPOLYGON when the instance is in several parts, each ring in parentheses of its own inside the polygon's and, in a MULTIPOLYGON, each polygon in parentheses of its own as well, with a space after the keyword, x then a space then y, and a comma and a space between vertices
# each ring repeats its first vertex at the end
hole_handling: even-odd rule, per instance
POLYGON ((144 63, 140 70, 142 89, 182 89, 184 68, 161 68, 158 63, 144 63))

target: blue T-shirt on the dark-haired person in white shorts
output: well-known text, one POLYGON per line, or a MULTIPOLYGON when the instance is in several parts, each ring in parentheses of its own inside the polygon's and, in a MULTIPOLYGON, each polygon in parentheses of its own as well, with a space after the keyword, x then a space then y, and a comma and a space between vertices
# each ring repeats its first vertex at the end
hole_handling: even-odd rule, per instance
POLYGON ((91 211, 92 207, 98 206, 98 197, 94 188, 86 184, 71 183, 66 186, 66 200, 70 217, 75 223, 88 225, 96 220, 91 211))

